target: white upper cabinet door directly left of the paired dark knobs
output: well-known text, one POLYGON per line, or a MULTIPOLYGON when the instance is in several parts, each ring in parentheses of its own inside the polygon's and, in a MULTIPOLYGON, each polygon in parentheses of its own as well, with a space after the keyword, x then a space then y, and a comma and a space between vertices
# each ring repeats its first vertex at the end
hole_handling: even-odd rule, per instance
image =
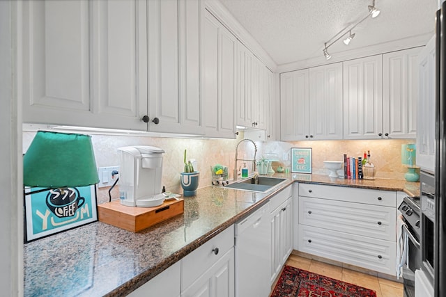
POLYGON ((95 127, 147 129, 145 10, 137 0, 93 2, 95 127))

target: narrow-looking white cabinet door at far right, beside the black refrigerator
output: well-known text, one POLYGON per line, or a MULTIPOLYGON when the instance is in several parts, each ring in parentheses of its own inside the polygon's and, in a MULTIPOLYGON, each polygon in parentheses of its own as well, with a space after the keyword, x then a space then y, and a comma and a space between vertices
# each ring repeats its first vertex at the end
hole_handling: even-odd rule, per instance
POLYGON ((420 85, 417 111, 417 166, 435 171, 435 36, 418 56, 420 85))

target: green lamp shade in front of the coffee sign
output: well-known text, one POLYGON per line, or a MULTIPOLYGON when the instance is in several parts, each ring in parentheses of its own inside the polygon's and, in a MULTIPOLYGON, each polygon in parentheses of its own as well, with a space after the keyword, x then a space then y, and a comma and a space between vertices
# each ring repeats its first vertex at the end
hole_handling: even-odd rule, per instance
POLYGON ((91 136, 38 131, 23 158, 25 186, 89 186, 99 182, 91 136))

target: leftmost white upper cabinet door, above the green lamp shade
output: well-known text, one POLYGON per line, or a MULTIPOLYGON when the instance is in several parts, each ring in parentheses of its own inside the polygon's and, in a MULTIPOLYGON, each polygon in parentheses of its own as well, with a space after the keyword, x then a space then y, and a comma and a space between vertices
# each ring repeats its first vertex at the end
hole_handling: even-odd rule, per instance
POLYGON ((93 113, 90 13, 86 1, 23 3, 24 122, 61 124, 72 111, 93 113))

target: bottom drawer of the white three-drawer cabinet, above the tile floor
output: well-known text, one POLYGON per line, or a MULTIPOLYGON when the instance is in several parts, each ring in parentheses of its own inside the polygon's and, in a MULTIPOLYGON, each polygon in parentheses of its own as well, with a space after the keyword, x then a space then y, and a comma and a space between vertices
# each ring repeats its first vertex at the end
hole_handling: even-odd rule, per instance
POLYGON ((299 225, 299 250, 395 275, 397 246, 393 241, 299 225))

